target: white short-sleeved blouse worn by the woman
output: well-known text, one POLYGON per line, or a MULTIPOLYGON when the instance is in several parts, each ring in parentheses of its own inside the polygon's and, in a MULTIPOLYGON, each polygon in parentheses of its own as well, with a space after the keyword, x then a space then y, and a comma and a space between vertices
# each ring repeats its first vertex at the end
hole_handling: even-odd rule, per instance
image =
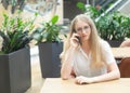
MULTIPOLYGON (((101 40, 101 45, 103 48, 103 55, 105 56, 106 64, 116 63, 109 44, 101 40)), ((73 68, 76 76, 84 76, 84 77, 95 77, 107 72, 106 66, 102 68, 91 69, 91 53, 87 55, 83 50, 79 46, 76 51, 74 59, 73 59, 73 68)))

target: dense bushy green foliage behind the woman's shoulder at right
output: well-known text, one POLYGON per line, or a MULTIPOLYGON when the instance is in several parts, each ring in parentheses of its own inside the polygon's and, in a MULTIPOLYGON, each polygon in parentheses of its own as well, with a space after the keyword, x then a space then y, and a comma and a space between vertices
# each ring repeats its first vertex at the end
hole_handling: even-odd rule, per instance
POLYGON ((125 40, 130 34, 129 17, 120 12, 105 14, 95 24, 101 38, 105 40, 125 40))

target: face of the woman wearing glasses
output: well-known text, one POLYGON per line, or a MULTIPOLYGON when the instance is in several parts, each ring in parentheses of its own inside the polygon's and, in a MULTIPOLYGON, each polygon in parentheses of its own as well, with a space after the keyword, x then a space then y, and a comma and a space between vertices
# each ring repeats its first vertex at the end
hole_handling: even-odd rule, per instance
POLYGON ((75 25, 76 32, 80 36, 81 41, 88 41, 91 34, 91 27, 83 21, 78 21, 75 25))

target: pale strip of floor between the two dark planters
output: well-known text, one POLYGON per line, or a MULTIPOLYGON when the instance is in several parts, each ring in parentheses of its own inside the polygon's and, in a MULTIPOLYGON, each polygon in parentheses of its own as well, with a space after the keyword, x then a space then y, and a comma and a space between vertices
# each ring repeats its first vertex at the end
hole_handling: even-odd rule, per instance
POLYGON ((31 87, 25 93, 40 93, 44 79, 41 77, 37 46, 30 50, 31 54, 31 87))

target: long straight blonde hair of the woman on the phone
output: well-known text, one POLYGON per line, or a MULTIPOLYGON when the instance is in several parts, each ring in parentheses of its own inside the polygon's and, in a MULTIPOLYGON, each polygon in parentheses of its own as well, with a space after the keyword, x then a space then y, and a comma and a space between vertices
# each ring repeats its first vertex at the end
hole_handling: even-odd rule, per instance
POLYGON ((101 38, 98 35, 98 30, 96 30, 96 27, 95 27, 93 21, 89 16, 87 16, 86 14, 79 14, 72 21, 69 36, 67 37, 67 40, 64 44, 63 52, 61 53, 62 62, 64 62, 66 52, 70 46, 69 39, 70 39, 72 35, 75 32, 75 25, 79 19, 88 23, 91 27, 91 35, 90 35, 89 44, 91 48, 92 62, 90 64, 90 67, 93 68, 93 67, 101 67, 101 66, 105 65, 103 56, 101 56, 102 55, 102 48, 100 44, 101 38))

